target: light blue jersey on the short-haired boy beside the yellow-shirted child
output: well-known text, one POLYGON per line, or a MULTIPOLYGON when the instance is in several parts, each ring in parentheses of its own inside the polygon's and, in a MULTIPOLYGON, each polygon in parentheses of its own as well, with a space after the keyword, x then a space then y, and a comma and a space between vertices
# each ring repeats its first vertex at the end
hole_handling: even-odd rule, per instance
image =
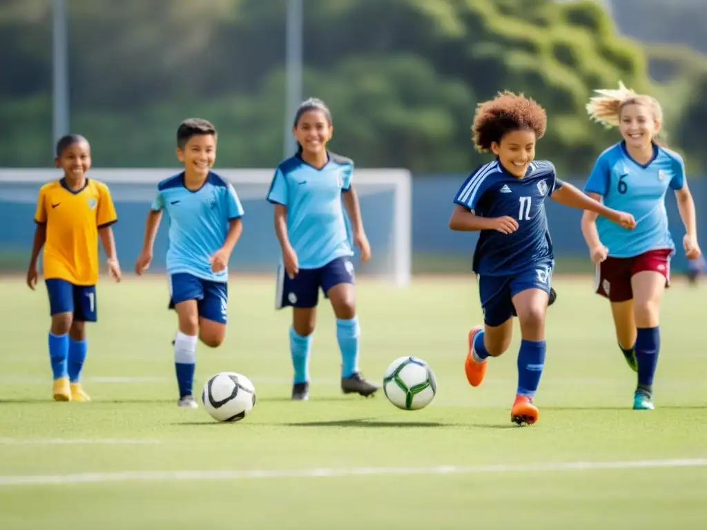
POLYGON ((230 220, 243 216, 233 186, 214 172, 196 192, 184 185, 184 173, 163 180, 150 207, 170 217, 167 272, 189 273, 209 281, 228 281, 228 269, 211 271, 210 258, 223 246, 230 220))

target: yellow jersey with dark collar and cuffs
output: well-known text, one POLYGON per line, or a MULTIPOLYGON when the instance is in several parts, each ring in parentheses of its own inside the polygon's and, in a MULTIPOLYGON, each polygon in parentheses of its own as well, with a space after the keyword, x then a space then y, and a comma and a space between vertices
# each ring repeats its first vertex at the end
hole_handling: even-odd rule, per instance
POLYGON ((75 192, 64 179, 45 184, 37 198, 35 223, 47 226, 44 277, 74 285, 98 282, 98 229, 118 220, 108 187, 86 180, 75 192))

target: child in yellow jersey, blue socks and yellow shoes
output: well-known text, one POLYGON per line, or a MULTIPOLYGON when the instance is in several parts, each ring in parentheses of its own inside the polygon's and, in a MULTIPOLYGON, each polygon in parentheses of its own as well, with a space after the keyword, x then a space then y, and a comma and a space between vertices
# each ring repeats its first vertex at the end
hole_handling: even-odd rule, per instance
POLYGON ((95 284, 98 282, 98 237, 108 257, 108 271, 120 281, 111 225, 117 221, 108 187, 86 177, 90 146, 83 136, 71 134, 57 143, 54 165, 64 177, 40 189, 35 213, 35 238, 27 271, 27 285, 37 285, 37 257, 42 247, 42 269, 52 327, 49 360, 54 374, 56 401, 90 401, 79 377, 86 360, 86 322, 97 317, 95 284))

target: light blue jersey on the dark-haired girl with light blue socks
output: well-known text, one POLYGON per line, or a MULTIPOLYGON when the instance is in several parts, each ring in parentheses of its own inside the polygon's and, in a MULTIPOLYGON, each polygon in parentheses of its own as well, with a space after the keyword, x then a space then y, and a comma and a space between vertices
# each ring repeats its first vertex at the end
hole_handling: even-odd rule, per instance
POLYGON ((300 269, 319 269, 354 255, 341 202, 341 192, 351 189, 353 172, 351 160, 333 153, 320 170, 298 155, 275 170, 267 200, 287 207, 287 234, 300 269))

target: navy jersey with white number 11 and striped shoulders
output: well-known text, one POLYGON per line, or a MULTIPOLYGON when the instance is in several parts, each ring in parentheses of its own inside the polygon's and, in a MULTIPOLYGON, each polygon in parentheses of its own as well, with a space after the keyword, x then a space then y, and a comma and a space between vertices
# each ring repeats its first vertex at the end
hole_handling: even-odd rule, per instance
POLYGON ((498 160, 482 165, 464 181, 455 204, 486 218, 508 216, 518 230, 504 234, 481 230, 474 252, 474 272, 481 276, 513 276, 535 264, 553 259, 547 228, 545 199, 562 186, 552 163, 530 163, 519 179, 503 169, 498 160))

